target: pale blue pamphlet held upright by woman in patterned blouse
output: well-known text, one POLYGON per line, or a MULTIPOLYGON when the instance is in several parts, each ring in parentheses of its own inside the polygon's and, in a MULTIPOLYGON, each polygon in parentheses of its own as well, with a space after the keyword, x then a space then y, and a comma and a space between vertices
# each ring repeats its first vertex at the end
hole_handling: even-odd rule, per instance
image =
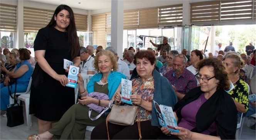
POLYGON ((127 79, 123 79, 121 81, 121 102, 125 102, 127 104, 131 103, 131 81, 127 79))

